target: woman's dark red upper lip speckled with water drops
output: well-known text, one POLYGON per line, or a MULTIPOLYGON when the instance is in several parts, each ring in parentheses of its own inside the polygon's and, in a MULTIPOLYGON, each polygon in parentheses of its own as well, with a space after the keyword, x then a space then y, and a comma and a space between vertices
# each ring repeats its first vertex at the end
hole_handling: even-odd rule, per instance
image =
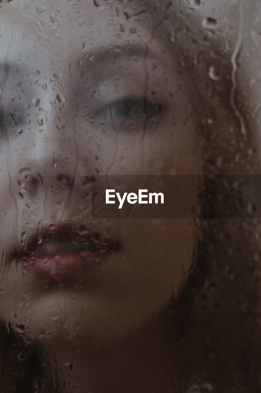
POLYGON ((118 241, 72 223, 49 224, 35 228, 24 237, 18 257, 62 252, 98 252, 106 254, 121 248, 118 241))

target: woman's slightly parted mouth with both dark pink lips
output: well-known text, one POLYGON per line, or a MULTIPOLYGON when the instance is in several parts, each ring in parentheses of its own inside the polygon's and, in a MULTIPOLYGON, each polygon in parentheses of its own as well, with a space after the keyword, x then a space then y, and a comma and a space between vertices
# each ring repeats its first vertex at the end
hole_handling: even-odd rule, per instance
POLYGON ((24 269, 49 277, 77 277, 121 249, 119 242, 74 224, 49 224, 25 237, 18 252, 24 269))

